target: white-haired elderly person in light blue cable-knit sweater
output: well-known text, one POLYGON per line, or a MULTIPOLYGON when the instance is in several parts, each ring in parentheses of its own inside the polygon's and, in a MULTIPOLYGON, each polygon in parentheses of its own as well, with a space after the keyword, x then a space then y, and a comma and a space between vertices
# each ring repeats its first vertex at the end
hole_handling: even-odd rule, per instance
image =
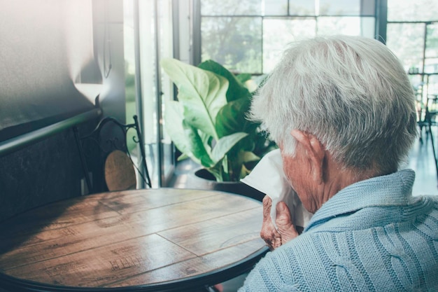
POLYGON ((253 99, 283 171, 313 214, 301 235, 264 198, 275 248, 239 291, 438 291, 438 200, 398 170, 416 139, 414 92, 397 57, 356 36, 288 48, 253 99), (279 247, 277 247, 279 246, 279 247))

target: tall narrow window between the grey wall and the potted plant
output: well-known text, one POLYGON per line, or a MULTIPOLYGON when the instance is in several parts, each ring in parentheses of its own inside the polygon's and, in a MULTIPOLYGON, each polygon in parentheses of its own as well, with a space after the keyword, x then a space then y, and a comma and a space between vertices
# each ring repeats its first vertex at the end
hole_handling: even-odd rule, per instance
POLYGON ((126 116, 141 118, 150 179, 162 186, 174 168, 171 139, 162 129, 173 85, 159 68, 160 58, 173 56, 171 0, 125 0, 124 13, 126 116))

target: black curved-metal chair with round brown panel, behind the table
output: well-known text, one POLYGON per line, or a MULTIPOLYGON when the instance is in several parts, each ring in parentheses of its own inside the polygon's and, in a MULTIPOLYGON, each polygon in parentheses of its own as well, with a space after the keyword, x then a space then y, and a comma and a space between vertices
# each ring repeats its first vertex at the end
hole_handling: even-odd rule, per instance
POLYGON ((152 188, 139 122, 137 116, 133 118, 134 123, 125 125, 105 117, 83 137, 78 127, 73 128, 88 190, 85 193, 152 188))

